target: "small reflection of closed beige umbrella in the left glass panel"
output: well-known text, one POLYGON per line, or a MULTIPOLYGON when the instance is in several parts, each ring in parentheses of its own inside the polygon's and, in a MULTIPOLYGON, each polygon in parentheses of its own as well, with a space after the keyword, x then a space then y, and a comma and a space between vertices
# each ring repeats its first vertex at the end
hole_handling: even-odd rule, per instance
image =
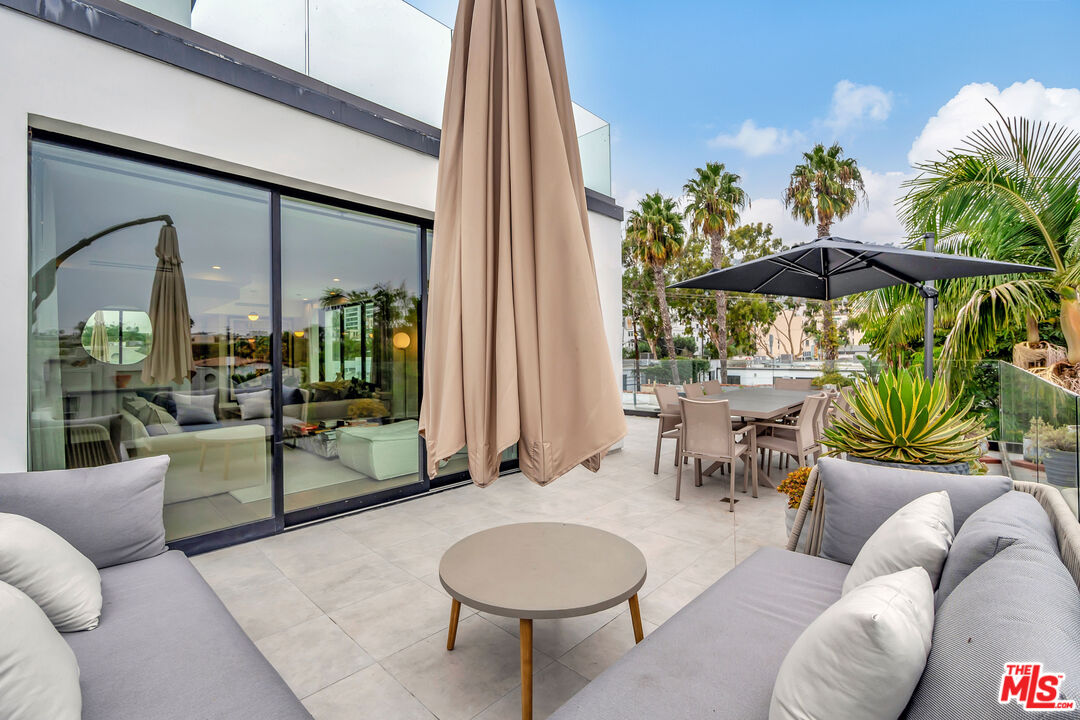
POLYGON ((143 382, 180 383, 191 377, 191 316, 188 291, 180 267, 180 245, 176 228, 162 226, 158 234, 158 269, 150 290, 150 354, 143 361, 143 382))

